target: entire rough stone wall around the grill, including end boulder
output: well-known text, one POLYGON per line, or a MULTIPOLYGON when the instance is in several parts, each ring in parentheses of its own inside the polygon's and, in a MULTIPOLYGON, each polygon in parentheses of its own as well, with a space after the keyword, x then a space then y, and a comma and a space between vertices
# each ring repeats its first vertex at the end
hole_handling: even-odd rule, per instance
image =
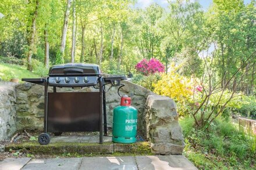
MULTIPOLYGON (((130 96, 131 105, 137 108, 138 134, 151 142, 152 153, 182 154, 184 148, 183 135, 173 100, 169 97, 156 95, 148 89, 129 81, 122 81, 122 84, 125 84, 125 86, 120 89, 120 94, 130 96)), ((118 88, 106 86, 106 91, 108 91, 106 92, 108 128, 112 128, 113 108, 120 104, 118 88)), ((98 89, 93 87, 83 89, 57 88, 57 92, 71 91, 95 92, 98 89)), ((52 88, 49 88, 49 92, 52 92, 52 88)), ((4 114, 0 114, 0 118, 7 120, 4 123, 5 126, 7 125, 6 127, 8 127, 8 124, 15 127, 12 130, 6 128, 4 133, 8 133, 10 136, 16 129, 43 130, 44 86, 24 83, 16 85, 15 91, 12 87, 5 89, 5 92, 2 93, 0 100, 5 101, 2 103, 8 104, 0 105, 1 114, 4 114), (17 128, 14 125, 15 119, 17 128)))

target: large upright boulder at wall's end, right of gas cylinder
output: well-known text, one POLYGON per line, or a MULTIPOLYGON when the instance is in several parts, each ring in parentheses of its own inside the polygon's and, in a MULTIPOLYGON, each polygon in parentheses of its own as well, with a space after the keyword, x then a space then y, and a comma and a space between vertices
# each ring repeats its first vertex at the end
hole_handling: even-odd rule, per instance
POLYGON ((147 138, 155 154, 182 154, 184 139, 176 104, 165 96, 149 95, 145 103, 147 138))

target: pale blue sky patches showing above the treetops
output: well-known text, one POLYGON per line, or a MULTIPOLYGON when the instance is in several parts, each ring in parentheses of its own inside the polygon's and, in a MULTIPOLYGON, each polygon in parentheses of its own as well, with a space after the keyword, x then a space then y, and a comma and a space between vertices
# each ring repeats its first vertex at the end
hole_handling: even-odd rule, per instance
MULTIPOLYGON (((195 1, 195 0, 191 0, 191 1, 195 1)), ((168 6, 168 2, 167 0, 137 0, 137 3, 135 5, 136 8, 147 8, 147 6, 149 6, 151 3, 158 3, 159 5, 161 5, 163 8, 167 8, 168 6)), ((244 0, 244 3, 250 3, 251 0, 244 0)), ((212 0, 199 0, 199 3, 202 6, 202 9, 207 10, 209 8, 209 6, 212 4, 212 0)))

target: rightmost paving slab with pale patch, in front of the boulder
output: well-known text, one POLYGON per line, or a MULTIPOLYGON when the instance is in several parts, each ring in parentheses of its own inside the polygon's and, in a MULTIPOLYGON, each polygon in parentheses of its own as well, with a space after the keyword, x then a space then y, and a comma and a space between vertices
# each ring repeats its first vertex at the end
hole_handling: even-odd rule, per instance
POLYGON ((139 170, 197 169, 183 155, 151 155, 137 156, 139 170))

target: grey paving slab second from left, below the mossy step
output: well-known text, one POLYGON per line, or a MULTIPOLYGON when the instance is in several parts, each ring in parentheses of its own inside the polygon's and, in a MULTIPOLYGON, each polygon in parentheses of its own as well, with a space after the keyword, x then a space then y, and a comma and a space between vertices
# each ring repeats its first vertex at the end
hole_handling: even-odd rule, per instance
POLYGON ((82 158, 33 159, 22 170, 72 169, 80 167, 82 158))

